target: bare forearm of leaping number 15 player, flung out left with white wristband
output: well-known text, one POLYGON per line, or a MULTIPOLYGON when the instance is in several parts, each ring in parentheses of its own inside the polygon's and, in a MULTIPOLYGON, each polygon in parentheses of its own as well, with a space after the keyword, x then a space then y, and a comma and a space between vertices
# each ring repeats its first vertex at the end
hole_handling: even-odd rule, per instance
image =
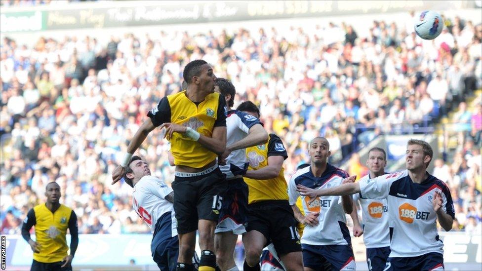
POLYGON ((116 169, 114 169, 114 172, 112 173, 112 184, 115 184, 119 180, 121 180, 122 176, 125 173, 125 167, 130 161, 130 157, 132 157, 134 152, 141 146, 142 142, 146 140, 147 135, 155 128, 156 126, 154 126, 151 119, 147 119, 146 121, 144 121, 144 123, 142 123, 141 127, 139 127, 137 132, 134 134, 134 137, 129 142, 129 145, 127 146, 127 153, 124 156, 124 160, 121 162, 120 165, 117 166, 116 169))

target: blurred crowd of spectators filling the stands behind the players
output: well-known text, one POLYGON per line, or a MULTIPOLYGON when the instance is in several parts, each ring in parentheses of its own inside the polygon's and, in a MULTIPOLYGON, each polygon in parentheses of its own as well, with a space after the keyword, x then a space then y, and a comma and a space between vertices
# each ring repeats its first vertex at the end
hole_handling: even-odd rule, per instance
MULTIPOLYGON (((131 188, 110 185, 111 174, 147 112, 181 90, 184 66, 204 59, 236 86, 235 107, 244 100, 259 105, 265 128, 288 149, 287 178, 309 161, 307 144, 315 136, 328 139, 329 162, 350 159, 350 172, 366 173, 359 147, 381 134, 430 133, 449 117, 459 147, 453 157, 434 157, 433 173, 451 188, 455 230, 480 233, 482 108, 465 101, 480 88, 482 26, 445 19, 432 41, 418 38, 411 23, 384 21, 373 21, 367 37, 344 23, 310 32, 165 30, 114 35, 105 44, 65 36, 24 45, 6 37, 0 41, 0 232, 20 233, 51 181, 76 211, 80 233, 149 232, 131 207, 131 188)), ((140 155, 170 183, 167 149, 157 129, 140 155)))

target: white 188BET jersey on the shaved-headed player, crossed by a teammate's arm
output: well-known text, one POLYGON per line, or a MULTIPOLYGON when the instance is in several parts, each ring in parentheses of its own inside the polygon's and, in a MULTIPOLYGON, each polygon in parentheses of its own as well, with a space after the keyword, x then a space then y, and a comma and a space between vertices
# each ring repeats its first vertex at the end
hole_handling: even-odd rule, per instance
POLYGON ((320 213, 319 224, 316 227, 305 226, 302 244, 310 245, 348 245, 351 244, 350 232, 346 226, 345 211, 341 203, 341 196, 321 196, 311 204, 310 197, 302 196, 296 191, 296 185, 303 185, 314 189, 326 189, 341 185, 348 174, 337 167, 327 164, 326 170, 321 177, 315 177, 311 166, 296 171, 288 185, 289 204, 296 204, 301 196, 305 215, 308 213, 320 213))

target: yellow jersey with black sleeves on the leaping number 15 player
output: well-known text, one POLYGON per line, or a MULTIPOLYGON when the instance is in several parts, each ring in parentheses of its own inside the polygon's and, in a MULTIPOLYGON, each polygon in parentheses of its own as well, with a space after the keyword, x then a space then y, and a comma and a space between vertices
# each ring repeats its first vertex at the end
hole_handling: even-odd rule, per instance
MULTIPOLYGON (((226 101, 219 93, 211 93, 201 103, 194 103, 188 99, 186 91, 182 91, 162 98, 147 116, 155 126, 171 122, 212 137, 214 127, 226 126, 226 114, 226 101)), ((170 143, 175 165, 201 168, 217 157, 199 142, 180 133, 174 133, 170 143)))

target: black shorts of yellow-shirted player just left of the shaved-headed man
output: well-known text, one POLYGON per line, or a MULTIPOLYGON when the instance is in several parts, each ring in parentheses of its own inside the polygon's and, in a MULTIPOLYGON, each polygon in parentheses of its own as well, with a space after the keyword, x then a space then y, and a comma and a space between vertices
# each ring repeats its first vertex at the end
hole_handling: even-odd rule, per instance
POLYGON ((278 256, 301 251, 293 209, 287 200, 266 200, 249 204, 247 231, 258 231, 273 242, 278 256))

